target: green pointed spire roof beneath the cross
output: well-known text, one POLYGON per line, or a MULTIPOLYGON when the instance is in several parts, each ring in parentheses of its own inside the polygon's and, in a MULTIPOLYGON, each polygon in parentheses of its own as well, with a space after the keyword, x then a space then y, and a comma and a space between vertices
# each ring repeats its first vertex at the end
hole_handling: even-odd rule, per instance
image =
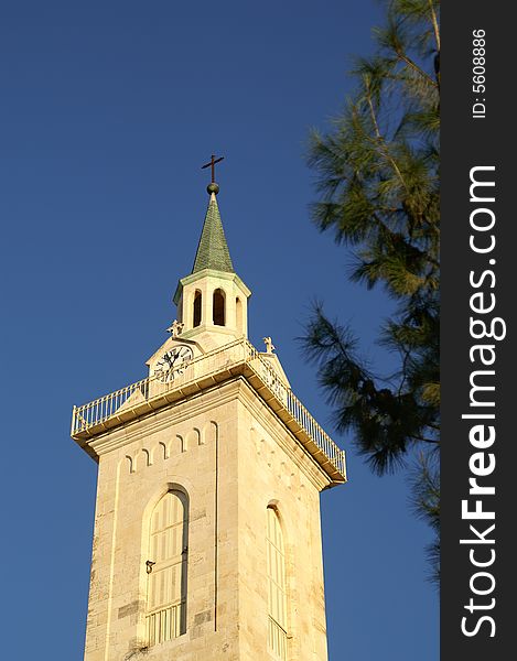
POLYGON ((206 209, 205 223, 192 272, 197 273, 203 269, 213 269, 214 271, 235 273, 215 197, 215 189, 208 189, 208 192, 211 193, 211 201, 206 209))

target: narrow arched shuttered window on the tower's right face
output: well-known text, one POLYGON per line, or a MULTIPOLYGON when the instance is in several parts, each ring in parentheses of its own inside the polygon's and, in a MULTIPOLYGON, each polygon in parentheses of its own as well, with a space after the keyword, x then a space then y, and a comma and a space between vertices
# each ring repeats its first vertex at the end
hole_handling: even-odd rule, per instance
POLYGON ((273 657, 284 661, 288 652, 286 554, 280 520, 273 507, 268 507, 267 553, 269 588, 268 647, 273 657))

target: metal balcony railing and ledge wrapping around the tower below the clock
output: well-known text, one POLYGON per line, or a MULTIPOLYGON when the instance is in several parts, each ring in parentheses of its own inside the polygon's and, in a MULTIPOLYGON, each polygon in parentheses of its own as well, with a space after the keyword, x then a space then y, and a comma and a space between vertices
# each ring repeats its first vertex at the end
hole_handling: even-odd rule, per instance
POLYGON ((346 480, 344 451, 323 431, 270 362, 246 338, 198 356, 171 382, 162 383, 154 377, 148 377, 93 402, 74 407, 72 436, 78 441, 95 436, 134 419, 137 414, 154 411, 238 375, 247 377, 258 394, 292 427, 321 465, 332 467, 331 473, 338 474, 335 475, 337 481, 346 480))

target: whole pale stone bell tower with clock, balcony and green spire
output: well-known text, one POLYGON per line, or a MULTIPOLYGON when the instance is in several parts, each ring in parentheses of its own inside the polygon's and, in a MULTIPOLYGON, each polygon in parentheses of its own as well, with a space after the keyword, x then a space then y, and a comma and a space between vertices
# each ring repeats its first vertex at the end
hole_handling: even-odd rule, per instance
POLYGON ((320 491, 345 457, 247 339, 217 184, 149 376, 74 407, 98 463, 86 661, 325 661, 320 491))

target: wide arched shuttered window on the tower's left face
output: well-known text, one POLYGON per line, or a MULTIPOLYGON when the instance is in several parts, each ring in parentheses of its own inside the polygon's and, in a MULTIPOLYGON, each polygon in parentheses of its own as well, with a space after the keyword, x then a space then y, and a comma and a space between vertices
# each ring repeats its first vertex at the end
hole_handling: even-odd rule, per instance
POLYGON ((151 514, 147 598, 149 644, 186 631, 189 507, 185 494, 171 490, 151 514))

